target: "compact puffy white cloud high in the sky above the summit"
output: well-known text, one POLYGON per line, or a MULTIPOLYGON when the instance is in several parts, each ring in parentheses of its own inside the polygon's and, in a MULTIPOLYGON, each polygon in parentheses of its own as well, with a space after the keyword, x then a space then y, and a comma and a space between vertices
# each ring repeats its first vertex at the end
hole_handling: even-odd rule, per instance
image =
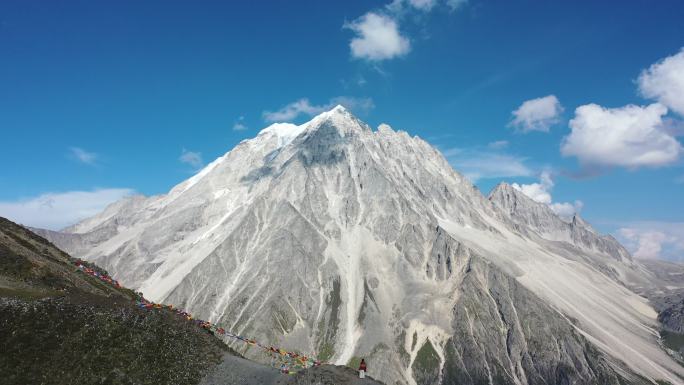
POLYGON ((397 21, 388 15, 368 12, 344 27, 356 33, 349 47, 357 59, 382 61, 406 55, 411 49, 397 21))

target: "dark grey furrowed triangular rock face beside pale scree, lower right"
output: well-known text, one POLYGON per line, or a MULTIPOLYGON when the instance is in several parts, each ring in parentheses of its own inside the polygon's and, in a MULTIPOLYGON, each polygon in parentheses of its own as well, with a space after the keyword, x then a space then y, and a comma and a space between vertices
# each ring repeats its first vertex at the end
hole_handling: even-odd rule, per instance
POLYGON ((460 289, 445 383, 620 384, 568 319, 495 266, 473 259, 460 289))

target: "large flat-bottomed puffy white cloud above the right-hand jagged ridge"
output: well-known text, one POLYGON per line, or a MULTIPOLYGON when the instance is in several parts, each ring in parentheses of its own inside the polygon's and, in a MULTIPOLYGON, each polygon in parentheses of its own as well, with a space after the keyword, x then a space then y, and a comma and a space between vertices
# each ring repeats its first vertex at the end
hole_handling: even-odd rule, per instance
POLYGON ((561 153, 584 166, 658 167, 679 159, 682 146, 663 123, 667 108, 659 103, 604 108, 580 106, 570 120, 561 153))

